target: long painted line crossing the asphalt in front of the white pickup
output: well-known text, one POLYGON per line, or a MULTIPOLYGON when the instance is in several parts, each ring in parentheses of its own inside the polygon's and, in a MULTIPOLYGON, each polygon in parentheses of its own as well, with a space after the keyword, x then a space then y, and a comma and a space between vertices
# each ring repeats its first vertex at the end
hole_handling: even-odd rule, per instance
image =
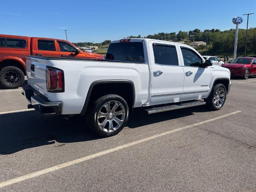
POLYGON ((47 174, 47 173, 50 173, 50 172, 54 172, 54 171, 63 169, 65 167, 72 166, 72 165, 75 165, 75 164, 78 164, 78 163, 81 163, 81 162, 84 162, 84 161, 87 161, 87 160, 90 160, 90 159, 93 159, 93 158, 96 158, 96 157, 99 157, 99 156, 102 156, 102 155, 106 155, 106 154, 109 154, 109 153, 112 153, 112 152, 116 152, 118 150, 128 148, 128 147, 131 147, 131 146, 134 146, 134 145, 137 145, 137 144, 140 144, 140 143, 143 143, 143 142, 146 142, 146 141, 158 138, 158 137, 166 136, 168 134, 172 134, 172 133, 177 132, 177 131, 185 130, 185 129, 192 128, 192 127, 195 127, 195 126, 198 126, 198 125, 202 125, 202 124, 205 124, 205 123, 208 123, 208 122, 212 122, 212 121, 215 121, 215 120, 218 120, 218 119, 221 119, 221 118, 225 118, 227 116, 234 115, 234 114, 237 114, 239 112, 241 112, 241 111, 235 111, 235 112, 232 112, 232 113, 229 113, 229 114, 226 114, 226 115, 218 116, 216 118, 212 118, 212 119, 205 120, 205 121, 202 121, 202 122, 194 123, 192 125, 188 125, 188 126, 181 127, 181 128, 176 128, 174 130, 166 131, 166 132, 156 134, 156 135, 153 135, 153 136, 150 136, 150 137, 146 137, 146 138, 134 141, 134 142, 130 142, 130 143, 121 145, 121 146, 117 146, 117 147, 114 147, 114 148, 111 148, 111 149, 108 149, 108 150, 104 150, 104 151, 101 151, 101 152, 98 152, 98 153, 95 153, 95 154, 84 156, 82 158, 78 158, 78 159, 75 159, 75 160, 72 160, 72 161, 69 161, 69 162, 66 162, 66 163, 62 163, 62 164, 59 164, 59 165, 56 165, 56 166, 52 166, 52 167, 49 167, 49 168, 46 168, 46 169, 43 169, 43 170, 39 170, 39 171, 30 173, 30 174, 20 176, 20 177, 17 177, 17 178, 6 180, 6 181, 0 183, 0 188, 3 188, 3 187, 8 186, 8 185, 15 184, 15 183, 18 183, 18 182, 22 182, 24 180, 35 178, 35 177, 38 177, 38 176, 41 176, 41 175, 44 175, 44 174, 47 174))

